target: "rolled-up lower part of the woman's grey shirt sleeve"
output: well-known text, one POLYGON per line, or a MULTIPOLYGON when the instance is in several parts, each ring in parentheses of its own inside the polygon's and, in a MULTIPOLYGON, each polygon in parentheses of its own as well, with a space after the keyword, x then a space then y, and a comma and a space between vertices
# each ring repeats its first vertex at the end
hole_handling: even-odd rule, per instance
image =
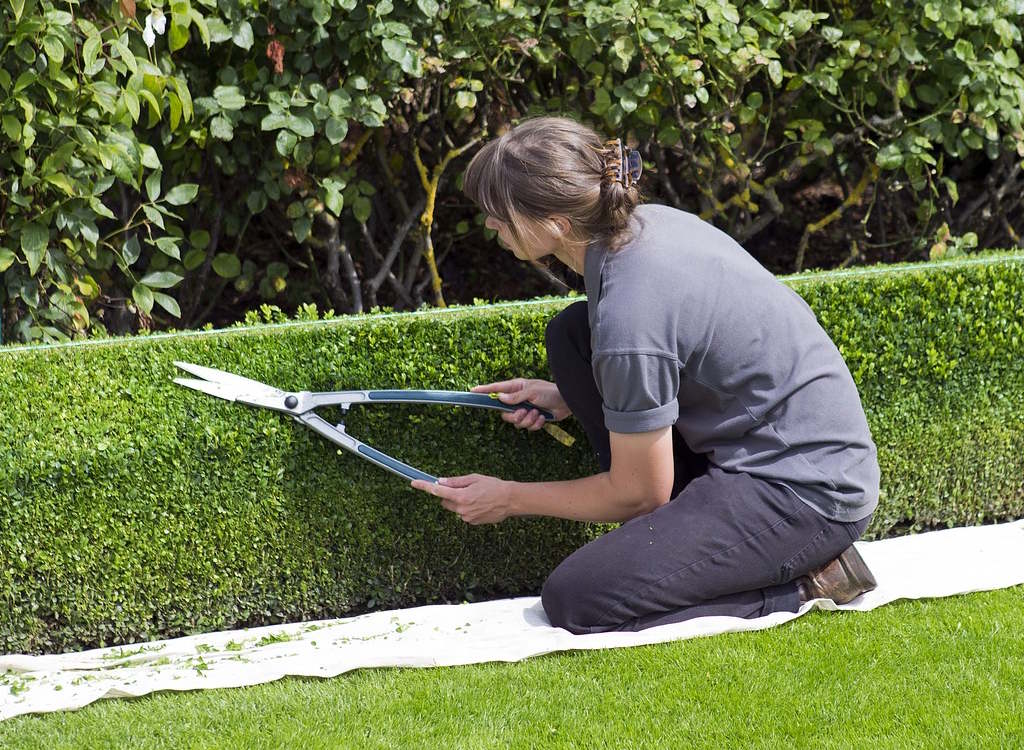
POLYGON ((679 365, 668 352, 603 352, 594 379, 611 432, 649 432, 679 418, 679 365))

